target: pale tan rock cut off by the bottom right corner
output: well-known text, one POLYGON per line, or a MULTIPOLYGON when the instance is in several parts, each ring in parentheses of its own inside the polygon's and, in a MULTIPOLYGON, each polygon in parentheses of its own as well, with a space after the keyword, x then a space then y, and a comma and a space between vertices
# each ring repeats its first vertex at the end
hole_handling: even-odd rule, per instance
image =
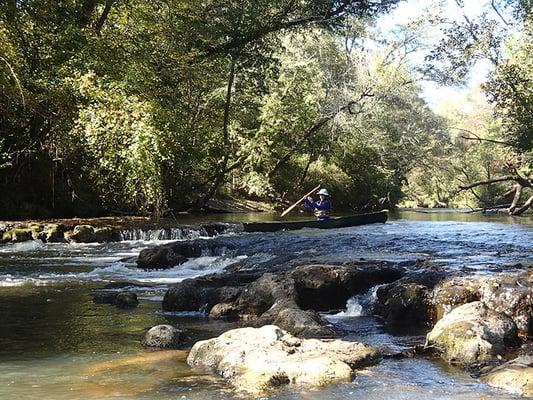
POLYGON ((522 396, 533 397, 533 356, 521 356, 483 374, 487 384, 522 396))

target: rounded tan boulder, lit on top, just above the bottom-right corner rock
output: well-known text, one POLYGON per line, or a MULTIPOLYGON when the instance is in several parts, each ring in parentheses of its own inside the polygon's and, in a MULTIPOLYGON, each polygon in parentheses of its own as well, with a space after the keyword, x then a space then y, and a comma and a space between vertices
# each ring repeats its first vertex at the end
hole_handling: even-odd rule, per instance
POLYGON ((426 337, 426 345, 436 347, 444 359, 464 365, 488 362, 516 341, 511 318, 479 301, 454 308, 426 337))

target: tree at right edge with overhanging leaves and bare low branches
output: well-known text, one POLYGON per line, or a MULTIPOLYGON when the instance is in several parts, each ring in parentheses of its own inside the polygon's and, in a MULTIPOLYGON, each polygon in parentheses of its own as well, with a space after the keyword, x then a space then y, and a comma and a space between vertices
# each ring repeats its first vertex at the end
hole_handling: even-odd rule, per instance
MULTIPOLYGON (((457 0, 456 3, 462 6, 457 0)), ((445 38, 430 55, 429 70, 448 81, 458 81, 466 76, 472 64, 480 59, 489 59, 493 66, 488 82, 483 88, 494 105, 495 116, 501 118, 502 129, 495 138, 486 138, 477 132, 470 132, 466 140, 504 146, 508 153, 500 176, 487 176, 460 185, 459 189, 473 190, 492 186, 499 182, 513 182, 507 196, 514 195, 508 208, 512 215, 520 215, 533 204, 533 196, 521 203, 525 191, 533 187, 532 157, 533 114, 532 114, 532 52, 531 38, 533 23, 531 2, 492 2, 494 15, 482 14, 472 19, 463 14, 461 21, 451 22, 445 30, 445 38), (516 19, 507 21, 501 7, 514 11, 516 19), (515 35, 516 31, 519 35, 515 35), (439 62, 445 62, 439 65, 439 62)))

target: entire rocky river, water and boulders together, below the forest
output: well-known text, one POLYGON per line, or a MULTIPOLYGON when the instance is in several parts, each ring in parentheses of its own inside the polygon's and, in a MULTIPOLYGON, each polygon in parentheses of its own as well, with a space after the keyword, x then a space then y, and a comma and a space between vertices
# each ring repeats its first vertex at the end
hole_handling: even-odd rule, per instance
POLYGON ((0 397, 528 396, 533 229, 447 218, 9 241, 0 397))

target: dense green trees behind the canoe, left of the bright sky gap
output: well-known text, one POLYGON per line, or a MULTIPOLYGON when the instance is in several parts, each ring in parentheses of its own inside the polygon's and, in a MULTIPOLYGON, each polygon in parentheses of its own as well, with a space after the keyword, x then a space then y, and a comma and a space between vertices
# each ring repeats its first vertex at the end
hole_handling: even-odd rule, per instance
POLYGON ((377 45, 372 19, 396 3, 3 2, 4 189, 38 182, 58 215, 318 181, 338 208, 395 202, 444 135, 401 43, 377 45))

